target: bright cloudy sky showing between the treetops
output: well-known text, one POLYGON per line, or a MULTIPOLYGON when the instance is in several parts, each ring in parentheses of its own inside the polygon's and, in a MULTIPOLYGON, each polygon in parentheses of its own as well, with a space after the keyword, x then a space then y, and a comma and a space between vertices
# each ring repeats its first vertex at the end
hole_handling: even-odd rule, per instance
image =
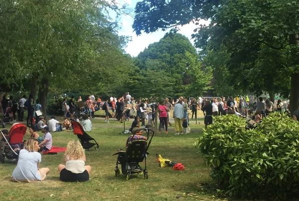
MULTIPOLYGON (((124 3, 127 3, 129 7, 135 9, 136 3, 142 1, 142 0, 116 0, 116 2, 119 5, 123 5, 124 3)), ((134 12, 132 12, 132 15, 134 15, 134 12)), ((136 33, 133 31, 132 25, 134 22, 134 17, 129 15, 123 15, 121 20, 122 29, 119 31, 120 35, 127 35, 132 37, 132 41, 129 41, 127 44, 127 47, 125 48, 126 52, 129 53, 131 56, 137 56, 140 52, 142 52, 145 48, 149 46, 149 44, 153 42, 159 41, 165 33, 167 33, 169 30, 158 30, 153 33, 142 33, 141 35, 137 36, 136 33)), ((202 20, 199 21, 199 24, 206 23, 206 21, 202 20)), ((198 25, 195 25, 193 23, 186 24, 184 26, 181 26, 179 29, 179 33, 185 35, 191 43, 193 44, 193 39, 191 39, 191 34, 193 33, 193 30, 197 28, 198 25)))

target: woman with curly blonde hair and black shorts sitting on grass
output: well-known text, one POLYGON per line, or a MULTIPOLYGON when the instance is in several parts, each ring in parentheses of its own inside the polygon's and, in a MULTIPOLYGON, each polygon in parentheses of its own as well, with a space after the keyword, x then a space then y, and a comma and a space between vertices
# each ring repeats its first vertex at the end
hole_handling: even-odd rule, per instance
POLYGON ((85 182, 89 180, 90 166, 85 166, 85 153, 78 140, 70 141, 64 154, 65 165, 60 164, 58 171, 62 182, 85 182))

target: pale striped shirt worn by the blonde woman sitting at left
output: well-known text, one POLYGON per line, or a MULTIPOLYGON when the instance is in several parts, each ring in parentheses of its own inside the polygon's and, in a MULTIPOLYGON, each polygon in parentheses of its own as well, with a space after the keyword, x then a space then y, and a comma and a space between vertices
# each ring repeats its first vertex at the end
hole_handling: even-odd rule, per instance
POLYGON ((18 182, 40 181, 40 175, 37 172, 38 162, 41 162, 40 153, 20 150, 17 165, 12 172, 12 180, 18 182))

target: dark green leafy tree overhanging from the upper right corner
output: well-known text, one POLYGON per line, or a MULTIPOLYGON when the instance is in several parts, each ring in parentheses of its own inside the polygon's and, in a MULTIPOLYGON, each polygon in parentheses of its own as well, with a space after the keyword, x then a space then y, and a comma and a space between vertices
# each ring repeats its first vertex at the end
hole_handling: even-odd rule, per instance
POLYGON ((269 83, 275 80, 280 82, 278 85, 288 86, 284 83, 288 81, 291 85, 291 111, 296 109, 299 99, 298 1, 143 0, 136 5, 135 12, 133 28, 137 34, 210 19, 210 24, 198 24, 194 30, 196 46, 217 51, 224 45, 230 54, 227 69, 234 75, 236 85, 246 88, 252 80, 259 82, 264 79, 263 84, 259 84, 260 89, 278 93, 282 89, 269 89, 269 83), (179 6, 175 6, 176 3, 179 6), (271 66, 274 57, 265 56, 265 52, 274 50, 281 59, 271 66), (252 73, 262 71, 269 73, 266 77, 266 73, 252 73), (247 73, 250 77, 246 76, 247 73), (291 80, 285 77, 291 77, 291 80))

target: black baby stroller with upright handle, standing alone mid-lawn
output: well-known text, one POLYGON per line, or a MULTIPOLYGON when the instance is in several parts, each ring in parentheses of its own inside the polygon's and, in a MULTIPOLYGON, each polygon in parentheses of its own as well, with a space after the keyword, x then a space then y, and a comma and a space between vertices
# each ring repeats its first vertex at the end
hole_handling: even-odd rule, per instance
POLYGON ((154 131, 148 128, 137 129, 133 135, 129 136, 127 140, 127 150, 119 150, 117 153, 113 154, 118 155, 115 167, 115 176, 120 175, 120 169, 118 165, 122 166, 122 173, 126 175, 126 179, 130 180, 132 174, 143 173, 144 178, 148 179, 148 170, 147 170, 147 155, 151 139, 154 135, 154 131), (148 137, 142 135, 137 135, 139 132, 147 132, 148 137), (149 136, 150 139, 149 139, 149 136), (148 141, 149 139, 149 141, 148 141), (145 168, 143 169, 139 163, 145 160, 145 168))

